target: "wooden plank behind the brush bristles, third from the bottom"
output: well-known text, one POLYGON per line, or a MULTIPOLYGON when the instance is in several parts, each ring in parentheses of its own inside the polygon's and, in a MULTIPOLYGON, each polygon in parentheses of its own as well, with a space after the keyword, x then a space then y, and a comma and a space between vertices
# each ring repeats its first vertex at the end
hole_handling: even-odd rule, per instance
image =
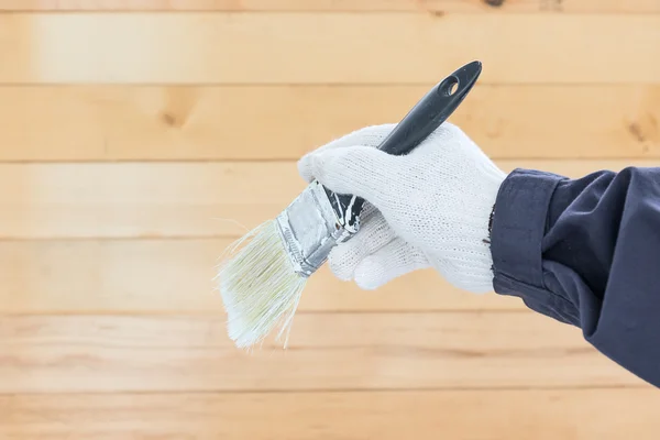
MULTIPOLYGON (((223 314, 212 278, 229 240, 0 242, 0 314, 223 314)), ((299 310, 516 310, 518 299, 472 295, 432 271, 361 290, 324 266, 299 310)))

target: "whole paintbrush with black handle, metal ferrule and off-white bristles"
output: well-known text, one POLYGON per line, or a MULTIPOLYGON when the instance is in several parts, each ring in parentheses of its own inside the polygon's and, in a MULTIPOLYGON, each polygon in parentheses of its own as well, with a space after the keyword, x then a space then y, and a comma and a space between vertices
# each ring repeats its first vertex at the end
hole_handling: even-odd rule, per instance
MULTIPOLYGON (((459 107, 481 70, 475 61, 438 82, 378 148, 394 155, 413 151, 459 107)), ((326 263, 332 248, 359 232, 363 205, 363 199, 334 194, 315 180, 277 218, 227 249, 226 255, 233 256, 220 264, 217 278, 228 333, 237 346, 263 341, 278 324, 277 339, 286 333, 286 346, 307 279, 326 263)))

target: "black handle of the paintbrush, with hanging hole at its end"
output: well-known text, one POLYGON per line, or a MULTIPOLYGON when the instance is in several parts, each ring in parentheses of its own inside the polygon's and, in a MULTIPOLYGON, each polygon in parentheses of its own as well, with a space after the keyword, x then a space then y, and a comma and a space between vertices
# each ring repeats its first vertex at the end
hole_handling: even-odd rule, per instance
MULTIPOLYGON (((424 98, 394 128, 378 145, 378 150, 393 155, 405 155, 436 131, 468 96, 482 72, 481 62, 472 62, 457 69, 429 90, 424 98)), ((345 229, 355 228, 364 199, 334 194, 326 189, 332 208, 345 229)))

